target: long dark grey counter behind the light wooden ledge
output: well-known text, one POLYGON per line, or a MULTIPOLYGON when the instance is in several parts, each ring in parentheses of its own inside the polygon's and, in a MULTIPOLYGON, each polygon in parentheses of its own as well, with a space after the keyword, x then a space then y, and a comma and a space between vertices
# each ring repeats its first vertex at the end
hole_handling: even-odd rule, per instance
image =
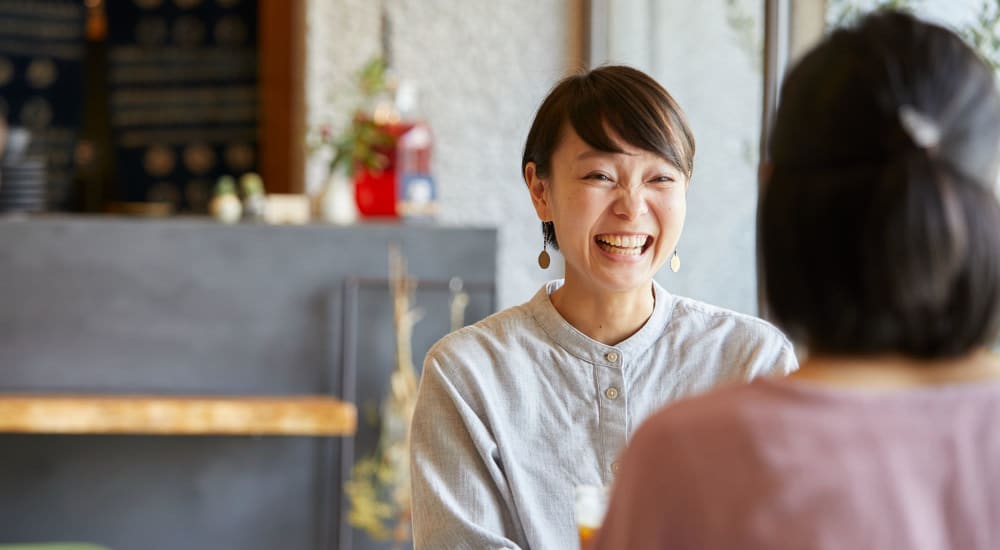
POLYGON ((388 247, 419 281, 413 357, 495 309, 490 228, 0 220, 0 391, 330 394, 353 438, 0 434, 0 542, 370 548, 344 481, 393 367, 388 247), (352 543, 353 538, 353 543, 352 543))

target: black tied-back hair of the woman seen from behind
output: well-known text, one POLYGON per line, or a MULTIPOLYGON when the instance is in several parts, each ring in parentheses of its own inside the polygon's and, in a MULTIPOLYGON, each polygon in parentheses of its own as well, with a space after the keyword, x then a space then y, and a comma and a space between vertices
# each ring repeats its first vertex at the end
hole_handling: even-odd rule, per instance
POLYGON ((789 74, 759 211, 770 316, 811 352, 962 355, 1000 319, 1000 97, 954 33, 899 12, 789 74))

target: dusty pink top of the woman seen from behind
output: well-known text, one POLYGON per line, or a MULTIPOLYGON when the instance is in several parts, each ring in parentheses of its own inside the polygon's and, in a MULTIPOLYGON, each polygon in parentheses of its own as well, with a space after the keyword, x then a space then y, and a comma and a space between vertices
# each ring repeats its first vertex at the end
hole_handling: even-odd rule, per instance
POLYGON ((630 443, 593 548, 1000 549, 1000 383, 678 402, 630 443))

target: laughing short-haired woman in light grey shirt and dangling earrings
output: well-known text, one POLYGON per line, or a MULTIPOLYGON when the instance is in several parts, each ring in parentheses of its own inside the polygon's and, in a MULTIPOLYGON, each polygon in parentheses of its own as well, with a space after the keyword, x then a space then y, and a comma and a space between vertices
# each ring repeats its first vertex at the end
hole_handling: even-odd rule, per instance
POLYGON ((759 319, 674 296, 694 138, 648 75, 606 66, 551 91, 522 173, 565 279, 427 354, 412 424, 417 549, 575 548, 575 487, 608 485, 664 404, 785 374, 759 319))

